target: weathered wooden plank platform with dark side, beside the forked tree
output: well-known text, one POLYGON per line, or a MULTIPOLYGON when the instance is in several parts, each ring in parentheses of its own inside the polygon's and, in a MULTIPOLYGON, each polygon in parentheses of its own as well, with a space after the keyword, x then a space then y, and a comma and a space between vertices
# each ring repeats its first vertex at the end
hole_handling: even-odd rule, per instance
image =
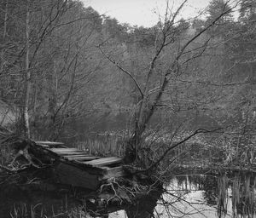
POLYGON ((40 155, 55 159, 53 169, 58 183, 96 190, 110 178, 124 176, 122 158, 100 158, 75 147, 64 146, 61 142, 38 141, 40 155))

